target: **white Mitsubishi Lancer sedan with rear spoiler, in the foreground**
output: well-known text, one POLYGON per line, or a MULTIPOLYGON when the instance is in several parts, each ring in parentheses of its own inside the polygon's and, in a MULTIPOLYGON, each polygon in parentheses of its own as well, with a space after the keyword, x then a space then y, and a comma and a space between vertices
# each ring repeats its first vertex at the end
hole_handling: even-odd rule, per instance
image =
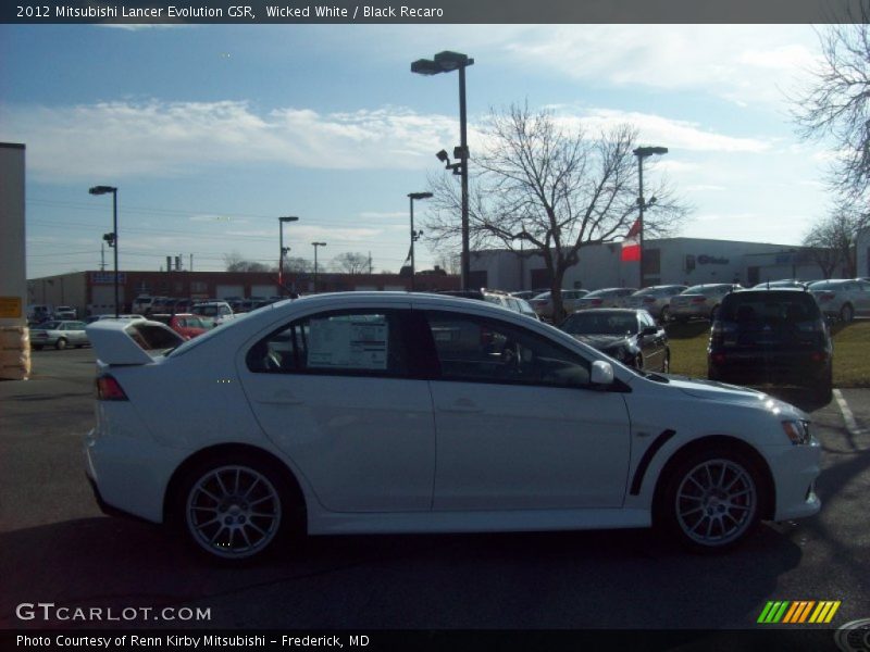
POLYGON ((222 560, 303 532, 651 525, 722 550, 820 509, 796 408, 641 374, 483 301, 331 293, 184 343, 151 322, 88 337, 98 502, 222 560))

